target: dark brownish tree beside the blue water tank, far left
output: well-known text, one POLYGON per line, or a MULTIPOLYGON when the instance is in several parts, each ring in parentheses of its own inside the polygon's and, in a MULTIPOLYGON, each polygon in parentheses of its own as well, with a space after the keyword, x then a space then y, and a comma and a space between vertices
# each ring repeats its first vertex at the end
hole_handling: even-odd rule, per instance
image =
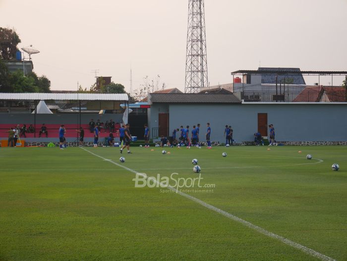
POLYGON ((0 57, 3 60, 16 59, 17 45, 20 42, 14 30, 0 27, 0 57))

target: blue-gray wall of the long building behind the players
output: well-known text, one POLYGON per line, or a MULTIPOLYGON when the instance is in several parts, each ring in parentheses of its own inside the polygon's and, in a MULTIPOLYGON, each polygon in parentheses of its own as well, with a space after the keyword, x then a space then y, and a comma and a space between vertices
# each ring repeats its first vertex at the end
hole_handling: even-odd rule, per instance
MULTIPOLYGON (((160 112, 167 112, 167 105, 151 106, 151 128, 158 128, 160 112)), ((347 104, 172 104, 169 113, 169 133, 181 125, 192 129, 200 123, 200 133, 205 134, 209 122, 213 141, 225 142, 227 124, 232 126, 237 142, 253 140, 258 113, 268 114, 268 124, 274 124, 278 141, 347 141, 347 104)))

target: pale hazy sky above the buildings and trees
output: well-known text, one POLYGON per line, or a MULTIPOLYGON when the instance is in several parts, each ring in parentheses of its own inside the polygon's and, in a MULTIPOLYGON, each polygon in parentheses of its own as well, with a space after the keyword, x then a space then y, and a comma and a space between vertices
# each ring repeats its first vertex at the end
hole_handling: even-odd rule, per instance
MULTIPOLYGON (((347 70, 346 13, 347 0, 205 0, 210 85, 259 64, 347 70)), ((187 17, 188 0, 0 0, 0 27, 41 52, 34 71, 53 90, 76 90, 77 81, 89 88, 99 69, 129 91, 130 66, 133 89, 160 75, 160 84, 184 90, 187 17)))

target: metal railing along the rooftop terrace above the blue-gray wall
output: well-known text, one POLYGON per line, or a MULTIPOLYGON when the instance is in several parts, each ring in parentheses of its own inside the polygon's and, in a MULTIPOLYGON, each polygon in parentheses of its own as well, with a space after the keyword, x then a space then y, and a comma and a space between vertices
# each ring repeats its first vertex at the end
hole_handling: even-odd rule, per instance
POLYGON ((241 99, 244 102, 347 102, 347 92, 242 92, 241 99))

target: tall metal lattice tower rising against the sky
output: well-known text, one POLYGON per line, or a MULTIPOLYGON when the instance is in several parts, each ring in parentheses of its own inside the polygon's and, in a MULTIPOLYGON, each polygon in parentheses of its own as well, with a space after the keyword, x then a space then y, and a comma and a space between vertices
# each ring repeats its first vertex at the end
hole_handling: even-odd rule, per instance
POLYGON ((204 0, 189 0, 185 92, 208 86, 204 0))

